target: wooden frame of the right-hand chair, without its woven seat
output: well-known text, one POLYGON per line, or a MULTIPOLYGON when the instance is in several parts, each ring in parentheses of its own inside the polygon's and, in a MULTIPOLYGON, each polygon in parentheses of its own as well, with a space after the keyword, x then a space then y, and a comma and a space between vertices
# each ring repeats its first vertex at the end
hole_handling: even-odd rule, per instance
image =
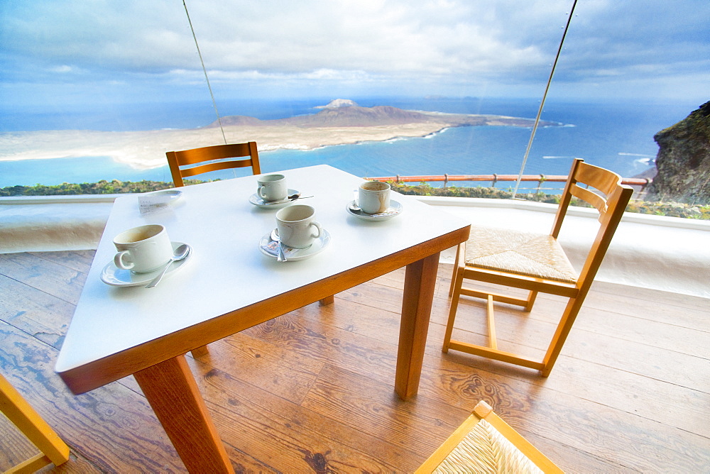
POLYGON ((555 361, 562 350, 564 341, 567 339, 569 331, 572 329, 574 319, 577 318, 579 309, 581 309, 584 303, 584 298, 589 292, 592 282, 594 282, 596 272, 599 270, 604 255, 606 255, 606 250, 608 250, 609 244, 611 243, 611 238, 621 221, 623 212, 626 209, 626 204, 628 204, 632 193, 633 189, 621 184, 621 177, 616 173, 594 165, 589 165, 579 158, 575 159, 572 163, 572 169, 569 172, 567 184, 562 192, 562 198, 559 202, 557 214, 555 215, 555 221, 552 224, 550 236, 557 239, 560 228, 562 228, 562 221, 569 207, 569 202, 573 196, 594 206, 594 208, 599 211, 598 220, 601 224, 589 254, 584 261, 584 266, 579 273, 579 277, 577 277, 577 281, 574 283, 559 282, 540 277, 520 275, 514 272, 487 270, 472 265, 466 265, 465 243, 459 245, 456 263, 454 263, 451 288, 449 290, 449 295, 452 297, 452 300, 446 334, 444 335, 444 347, 442 349, 444 353, 448 352, 449 349, 454 349, 456 351, 463 351, 494 360, 501 360, 506 363, 537 369, 540 370, 543 377, 550 375, 552 366, 555 365, 555 361), (585 187, 581 187, 581 184, 598 189, 603 196, 585 187), (483 292, 463 287, 464 279, 521 288, 528 290, 528 297, 510 297, 505 294, 483 292), (522 357, 515 353, 499 350, 496 341, 493 302, 518 305, 523 307, 525 312, 530 312, 538 292, 557 294, 569 298, 567 307, 565 307, 562 318, 557 325, 555 335, 552 336, 550 346, 547 348, 545 357, 542 361, 538 361, 522 357), (489 346, 477 346, 461 341, 452 341, 451 336, 454 328, 454 319, 461 294, 486 299, 489 346))

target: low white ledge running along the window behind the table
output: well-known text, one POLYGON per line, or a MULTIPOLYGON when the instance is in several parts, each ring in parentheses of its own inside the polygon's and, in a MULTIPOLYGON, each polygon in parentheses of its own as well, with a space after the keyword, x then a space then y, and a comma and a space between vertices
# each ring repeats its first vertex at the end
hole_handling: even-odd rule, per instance
MULTIPOLYGON (((0 253, 94 249, 125 194, 0 198, 0 253)), ((547 233, 557 205, 512 199, 417 197, 474 225, 547 233)), ((406 211, 406 209, 405 209, 406 211)), ((592 209, 570 208, 559 241, 577 270, 596 235, 592 209)), ((710 298, 710 222, 624 214, 597 280, 710 298)), ((442 253, 453 262, 454 250, 442 253)))

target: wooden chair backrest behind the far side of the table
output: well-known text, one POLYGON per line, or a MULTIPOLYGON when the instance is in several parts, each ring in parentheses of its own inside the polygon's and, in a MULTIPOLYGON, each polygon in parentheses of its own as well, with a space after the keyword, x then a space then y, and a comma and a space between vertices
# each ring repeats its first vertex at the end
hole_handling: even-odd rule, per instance
POLYGON ((175 187, 184 186, 183 177, 202 175, 209 171, 228 170, 251 166, 254 175, 261 174, 259 154, 256 142, 232 143, 230 145, 214 145, 192 150, 169 151, 165 153, 170 165, 170 174, 173 175, 175 187), (228 158, 249 157, 243 160, 230 160, 228 158), (219 160, 219 161, 217 161, 219 160), (199 165, 198 163, 204 163, 199 165))

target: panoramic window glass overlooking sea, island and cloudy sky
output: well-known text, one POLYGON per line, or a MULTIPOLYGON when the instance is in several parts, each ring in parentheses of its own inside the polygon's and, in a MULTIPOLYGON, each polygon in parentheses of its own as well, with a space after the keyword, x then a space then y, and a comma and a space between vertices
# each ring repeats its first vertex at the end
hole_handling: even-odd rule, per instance
MULTIPOLYGON (((165 151, 224 142, 215 105, 228 141, 258 142, 263 172, 517 174, 573 1, 186 4, 214 104, 180 3, 2 2, 0 187, 170 181, 165 151), (334 99, 491 117, 414 126, 413 112, 342 107, 298 121, 334 99)), ((525 173, 564 175, 572 157, 647 170, 652 134, 704 101, 708 10, 580 2, 525 173)))

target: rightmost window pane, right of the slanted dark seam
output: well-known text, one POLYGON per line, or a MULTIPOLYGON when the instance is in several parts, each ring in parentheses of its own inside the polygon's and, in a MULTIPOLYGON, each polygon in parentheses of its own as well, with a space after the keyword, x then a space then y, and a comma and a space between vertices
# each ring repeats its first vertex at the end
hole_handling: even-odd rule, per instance
POLYGON ((706 2, 579 1, 525 172, 564 175, 572 158, 652 176, 653 136, 707 100, 706 2), (704 11, 704 14, 699 14, 704 11))

